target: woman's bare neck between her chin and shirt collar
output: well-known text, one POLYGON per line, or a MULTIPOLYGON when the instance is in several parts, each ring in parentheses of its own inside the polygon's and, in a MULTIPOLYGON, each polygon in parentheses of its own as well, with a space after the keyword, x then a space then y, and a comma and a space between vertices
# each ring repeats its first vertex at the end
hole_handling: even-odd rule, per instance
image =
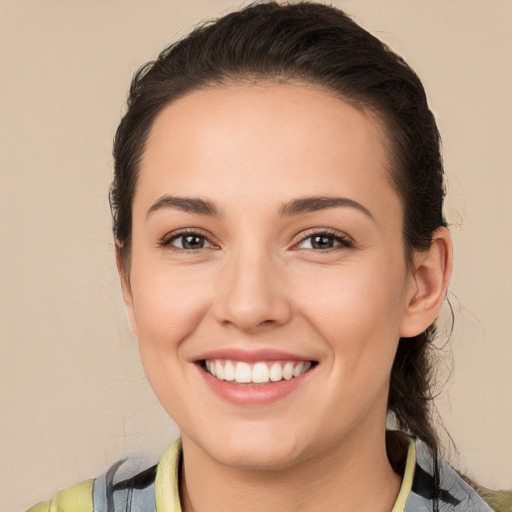
POLYGON ((389 512, 401 477, 386 456, 385 432, 348 436, 326 453, 283 469, 255 471, 219 464, 183 438, 183 512, 389 512))

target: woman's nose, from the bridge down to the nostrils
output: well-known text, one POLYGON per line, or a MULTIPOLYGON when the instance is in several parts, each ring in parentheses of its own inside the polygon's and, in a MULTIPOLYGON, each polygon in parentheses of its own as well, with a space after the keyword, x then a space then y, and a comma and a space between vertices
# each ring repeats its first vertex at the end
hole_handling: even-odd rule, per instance
POLYGON ((219 283, 217 320, 248 333, 287 323, 292 308, 283 273, 282 264, 268 254, 231 258, 219 283))

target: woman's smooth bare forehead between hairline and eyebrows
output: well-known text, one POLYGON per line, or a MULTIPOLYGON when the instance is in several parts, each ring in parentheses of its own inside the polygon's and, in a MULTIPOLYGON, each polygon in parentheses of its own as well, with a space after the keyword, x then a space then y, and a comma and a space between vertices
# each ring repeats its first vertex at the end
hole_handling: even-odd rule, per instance
POLYGON ((271 203, 283 193, 329 195, 338 187, 347 197, 378 201, 383 192, 394 195, 383 134, 369 111, 313 86, 202 89, 156 118, 135 199, 173 193, 249 200, 261 193, 271 203))

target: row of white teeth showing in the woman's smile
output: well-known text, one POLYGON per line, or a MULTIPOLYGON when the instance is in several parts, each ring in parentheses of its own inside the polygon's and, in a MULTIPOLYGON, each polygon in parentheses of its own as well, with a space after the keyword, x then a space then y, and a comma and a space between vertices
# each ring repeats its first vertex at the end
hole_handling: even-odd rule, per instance
POLYGON ((237 384, 268 384, 300 377, 316 366, 316 361, 232 361, 229 359, 205 359, 204 371, 219 380, 237 384))

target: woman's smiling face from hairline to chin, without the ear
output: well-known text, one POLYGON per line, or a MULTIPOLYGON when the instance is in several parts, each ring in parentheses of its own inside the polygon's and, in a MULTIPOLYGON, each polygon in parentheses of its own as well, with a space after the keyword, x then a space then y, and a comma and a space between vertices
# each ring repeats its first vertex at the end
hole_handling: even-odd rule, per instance
POLYGON ((379 124, 297 84, 166 107, 124 292, 157 397, 214 460, 285 467, 381 435, 414 278, 379 124))

